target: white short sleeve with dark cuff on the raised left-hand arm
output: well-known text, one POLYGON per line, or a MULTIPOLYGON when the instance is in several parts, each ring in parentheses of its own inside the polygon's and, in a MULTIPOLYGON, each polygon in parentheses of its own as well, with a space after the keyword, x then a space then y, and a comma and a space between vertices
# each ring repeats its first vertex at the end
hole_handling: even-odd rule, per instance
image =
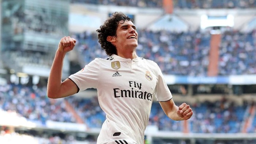
POLYGON ((99 60, 95 59, 83 69, 70 75, 71 79, 79 88, 79 91, 86 90, 87 88, 97 88, 99 82, 100 67, 99 60))

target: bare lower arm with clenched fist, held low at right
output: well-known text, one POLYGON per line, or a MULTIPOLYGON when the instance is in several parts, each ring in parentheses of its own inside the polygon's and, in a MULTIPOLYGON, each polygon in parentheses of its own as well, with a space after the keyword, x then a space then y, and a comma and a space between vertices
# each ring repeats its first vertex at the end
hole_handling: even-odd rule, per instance
POLYGON ((173 99, 159 103, 165 114, 172 120, 188 120, 193 115, 191 107, 186 103, 182 103, 179 107, 175 105, 173 99))

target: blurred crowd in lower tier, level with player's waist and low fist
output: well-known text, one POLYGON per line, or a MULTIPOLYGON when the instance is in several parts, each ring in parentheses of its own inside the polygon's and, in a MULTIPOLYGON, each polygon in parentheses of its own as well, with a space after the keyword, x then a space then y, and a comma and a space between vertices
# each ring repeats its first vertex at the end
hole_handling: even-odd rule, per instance
MULTIPOLYGON (((175 97, 175 96, 174 96, 175 97)), ((77 122, 74 115, 66 110, 67 101, 89 128, 101 128, 105 113, 99 107, 97 96, 91 99, 79 99, 70 96, 65 99, 49 99, 46 87, 28 87, 16 84, 0 86, 0 109, 15 111, 27 120, 45 125, 47 120, 60 122, 77 122)), ((189 120, 189 132, 193 133, 238 133, 250 115, 252 101, 238 104, 223 96, 214 102, 189 103, 194 115, 189 120)), ((158 126, 163 131, 182 132, 181 121, 172 121, 166 117, 157 102, 153 102, 149 125, 158 126)), ((256 132, 256 117, 252 125, 246 128, 247 133, 256 132)))

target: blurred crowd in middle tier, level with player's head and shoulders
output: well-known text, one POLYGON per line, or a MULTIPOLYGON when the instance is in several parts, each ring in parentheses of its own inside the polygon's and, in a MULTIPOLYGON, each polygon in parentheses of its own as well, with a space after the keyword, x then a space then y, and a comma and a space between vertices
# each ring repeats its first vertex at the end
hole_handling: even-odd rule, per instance
MULTIPOLYGON (((207 76, 210 50, 210 30, 175 33, 169 31, 138 30, 140 57, 158 63, 164 74, 207 76)), ((76 48, 86 64, 94 58, 106 58, 96 33, 73 34, 76 48)), ((256 73, 256 30, 241 32, 225 30, 219 53, 218 75, 246 75, 256 73)))

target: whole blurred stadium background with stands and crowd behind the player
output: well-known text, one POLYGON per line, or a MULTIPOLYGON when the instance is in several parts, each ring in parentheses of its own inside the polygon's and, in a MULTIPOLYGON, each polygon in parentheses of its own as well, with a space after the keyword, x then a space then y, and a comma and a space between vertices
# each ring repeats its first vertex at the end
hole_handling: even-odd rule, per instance
POLYGON ((256 0, 0 0, 0 143, 95 144, 97 91, 61 99, 46 84, 61 37, 77 39, 63 80, 106 58, 96 30, 115 11, 134 21, 138 56, 158 63, 177 105, 153 102, 146 144, 256 143, 256 0))

